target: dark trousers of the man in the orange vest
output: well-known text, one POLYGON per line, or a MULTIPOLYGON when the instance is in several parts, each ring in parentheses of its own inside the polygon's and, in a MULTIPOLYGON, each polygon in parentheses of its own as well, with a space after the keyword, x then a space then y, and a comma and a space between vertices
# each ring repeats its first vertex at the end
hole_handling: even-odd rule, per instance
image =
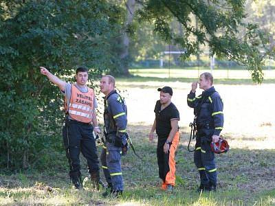
POLYGON ((66 120, 63 127, 63 141, 69 162, 69 176, 71 179, 80 176, 80 152, 87 159, 89 173, 99 171, 93 130, 94 128, 91 125, 66 120))

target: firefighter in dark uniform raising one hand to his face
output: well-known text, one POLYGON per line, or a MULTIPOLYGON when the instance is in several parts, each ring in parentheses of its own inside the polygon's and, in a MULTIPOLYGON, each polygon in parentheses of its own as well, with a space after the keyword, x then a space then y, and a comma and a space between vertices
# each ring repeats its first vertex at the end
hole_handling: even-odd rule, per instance
POLYGON ((202 73, 199 82, 192 83, 192 90, 187 96, 188 106, 194 108, 197 126, 194 162, 201 179, 198 191, 215 191, 217 187, 217 168, 210 143, 219 141, 223 129, 223 102, 212 84, 212 74, 202 73), (197 83, 203 93, 196 97, 197 83))

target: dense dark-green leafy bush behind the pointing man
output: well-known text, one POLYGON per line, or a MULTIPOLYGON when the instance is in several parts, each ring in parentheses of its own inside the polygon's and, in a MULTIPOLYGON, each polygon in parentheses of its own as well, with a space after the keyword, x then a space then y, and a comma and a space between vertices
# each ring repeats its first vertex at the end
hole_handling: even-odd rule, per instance
POLYGON ((85 65, 90 80, 115 68, 119 10, 105 1, 1 1, 1 166, 25 168, 61 150, 61 93, 39 66, 67 77, 85 65))

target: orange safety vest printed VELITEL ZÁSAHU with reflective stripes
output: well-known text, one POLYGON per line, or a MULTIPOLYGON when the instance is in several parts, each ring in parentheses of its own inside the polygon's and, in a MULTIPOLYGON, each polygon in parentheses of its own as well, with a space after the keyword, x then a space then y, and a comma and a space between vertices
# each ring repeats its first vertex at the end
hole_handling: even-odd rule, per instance
POLYGON ((78 122, 90 123, 94 112, 94 90, 88 87, 88 92, 81 92, 72 84, 72 94, 69 100, 68 113, 78 122))

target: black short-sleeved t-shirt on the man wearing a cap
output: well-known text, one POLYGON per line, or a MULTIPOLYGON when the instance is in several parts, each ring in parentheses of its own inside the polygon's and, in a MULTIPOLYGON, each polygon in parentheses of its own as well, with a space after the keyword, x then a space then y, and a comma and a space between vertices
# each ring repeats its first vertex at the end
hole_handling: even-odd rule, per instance
POLYGON ((160 101, 155 103, 156 132, 159 139, 167 139, 171 130, 171 119, 179 119, 179 111, 172 102, 161 110, 160 101))

